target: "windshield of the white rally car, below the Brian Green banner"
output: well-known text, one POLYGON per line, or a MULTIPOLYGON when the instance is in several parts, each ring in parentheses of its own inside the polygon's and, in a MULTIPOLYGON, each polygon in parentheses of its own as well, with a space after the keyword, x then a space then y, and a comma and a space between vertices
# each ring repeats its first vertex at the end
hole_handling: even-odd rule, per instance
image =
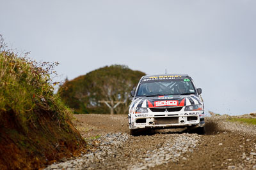
POLYGON ((195 94, 193 83, 186 81, 154 81, 143 82, 138 88, 136 96, 164 96, 164 95, 189 95, 195 94))

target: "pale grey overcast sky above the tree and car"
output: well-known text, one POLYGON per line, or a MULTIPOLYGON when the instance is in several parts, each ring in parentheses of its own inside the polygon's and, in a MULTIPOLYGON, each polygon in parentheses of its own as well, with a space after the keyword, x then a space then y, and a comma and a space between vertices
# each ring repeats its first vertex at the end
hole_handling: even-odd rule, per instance
POLYGON ((124 64, 146 74, 187 73, 205 110, 256 111, 255 0, 0 0, 0 34, 62 79, 124 64))

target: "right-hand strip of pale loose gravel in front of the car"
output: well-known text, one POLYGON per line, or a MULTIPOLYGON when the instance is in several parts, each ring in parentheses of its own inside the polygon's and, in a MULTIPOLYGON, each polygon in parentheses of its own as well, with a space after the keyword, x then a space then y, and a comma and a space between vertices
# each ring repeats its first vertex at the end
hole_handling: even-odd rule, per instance
MULTIPOLYGON (((170 161, 178 162, 179 159, 186 159, 181 155, 186 152, 193 152, 198 141, 200 141, 200 137, 197 134, 159 134, 159 136, 161 136, 161 139, 159 139, 157 145, 147 148, 146 153, 139 154, 135 161, 130 162, 134 164, 131 167, 132 170, 148 169, 170 161)), ((145 145, 148 144, 145 143, 145 145)), ((145 147, 140 148, 138 152, 145 150, 145 147)))

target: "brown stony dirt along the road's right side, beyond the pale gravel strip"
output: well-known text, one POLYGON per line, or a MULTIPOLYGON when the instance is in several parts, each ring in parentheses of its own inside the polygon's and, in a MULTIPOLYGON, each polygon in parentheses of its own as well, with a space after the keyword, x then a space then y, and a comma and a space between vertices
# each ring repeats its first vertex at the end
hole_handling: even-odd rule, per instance
POLYGON ((256 169, 255 127, 227 122, 226 117, 206 119, 207 134, 187 160, 156 169, 256 169), (254 129, 254 131, 253 131, 254 129))

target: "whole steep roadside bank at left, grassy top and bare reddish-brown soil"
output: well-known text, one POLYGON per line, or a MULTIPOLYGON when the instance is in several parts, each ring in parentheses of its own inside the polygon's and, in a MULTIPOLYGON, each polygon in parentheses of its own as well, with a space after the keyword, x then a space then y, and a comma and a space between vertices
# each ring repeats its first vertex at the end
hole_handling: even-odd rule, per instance
POLYGON ((86 146, 54 94, 56 64, 17 57, 0 36, 0 169, 35 169, 86 146))

